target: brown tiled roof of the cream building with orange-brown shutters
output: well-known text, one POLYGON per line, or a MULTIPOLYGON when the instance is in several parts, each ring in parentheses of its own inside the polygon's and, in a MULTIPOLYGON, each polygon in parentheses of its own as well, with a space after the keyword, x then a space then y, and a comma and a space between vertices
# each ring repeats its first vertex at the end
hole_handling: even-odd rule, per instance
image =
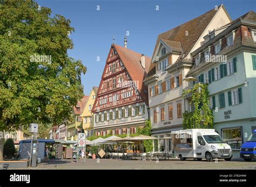
MULTIPOLYGON (((220 6, 218 6, 218 10, 220 6)), ((177 42, 180 42, 185 54, 183 58, 185 58, 191 51, 194 44, 196 44, 196 41, 199 39, 201 34, 205 31, 206 27, 215 16, 216 12, 217 10, 212 9, 197 18, 194 18, 182 25, 172 28, 169 31, 159 34, 153 55, 156 52, 159 40, 162 39, 170 43, 172 42, 172 44, 175 44, 175 46, 178 46, 177 42)))

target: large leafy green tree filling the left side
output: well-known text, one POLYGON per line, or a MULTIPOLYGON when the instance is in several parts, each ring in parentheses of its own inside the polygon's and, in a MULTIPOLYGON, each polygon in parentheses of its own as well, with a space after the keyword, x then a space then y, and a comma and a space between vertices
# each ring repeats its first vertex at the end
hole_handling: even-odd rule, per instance
POLYGON ((69 19, 50 16, 32 0, 0 1, 0 131, 69 121, 83 97, 86 67, 67 52, 74 29, 69 19))

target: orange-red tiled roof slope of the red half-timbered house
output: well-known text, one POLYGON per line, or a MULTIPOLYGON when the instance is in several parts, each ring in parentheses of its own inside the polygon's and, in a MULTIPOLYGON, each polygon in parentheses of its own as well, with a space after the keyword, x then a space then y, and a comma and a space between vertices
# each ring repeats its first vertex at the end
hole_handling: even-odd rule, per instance
POLYGON ((145 56, 145 69, 141 65, 142 54, 127 49, 125 47, 114 44, 113 47, 116 49, 120 59, 122 60, 127 72, 132 78, 132 81, 138 81, 138 91, 140 96, 144 99, 146 104, 148 104, 148 96, 145 91, 147 91, 147 86, 143 83, 144 78, 146 78, 147 73, 150 69, 151 58, 145 56))

